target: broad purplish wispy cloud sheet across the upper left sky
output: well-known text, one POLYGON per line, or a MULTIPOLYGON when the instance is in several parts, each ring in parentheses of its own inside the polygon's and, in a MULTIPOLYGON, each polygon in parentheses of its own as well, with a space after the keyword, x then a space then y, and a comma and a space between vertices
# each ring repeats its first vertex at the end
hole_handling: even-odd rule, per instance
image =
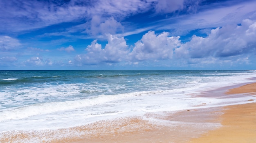
MULTIPOLYGON (((94 15, 112 15, 122 19, 127 15, 150 9, 156 0, 70 0, 52 1, 0 1, 2 17, 0 30, 20 31, 42 28, 74 20, 90 20, 94 15), (26 22, 24 21, 26 20, 26 22)), ((108 16, 107 16, 108 17, 108 16)))

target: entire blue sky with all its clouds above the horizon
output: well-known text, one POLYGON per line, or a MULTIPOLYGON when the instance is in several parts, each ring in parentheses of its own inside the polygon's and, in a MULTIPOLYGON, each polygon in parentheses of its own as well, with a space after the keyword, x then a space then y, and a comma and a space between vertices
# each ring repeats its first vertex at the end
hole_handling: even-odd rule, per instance
POLYGON ((256 0, 0 0, 0 70, 256 69, 256 0))

